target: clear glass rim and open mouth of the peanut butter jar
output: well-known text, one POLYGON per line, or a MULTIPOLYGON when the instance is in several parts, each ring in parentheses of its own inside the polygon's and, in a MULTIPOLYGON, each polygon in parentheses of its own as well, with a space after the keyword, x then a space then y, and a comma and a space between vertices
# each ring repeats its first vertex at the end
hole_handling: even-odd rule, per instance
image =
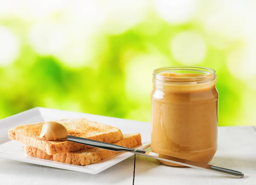
POLYGON ((197 66, 163 67, 153 73, 153 80, 164 83, 207 83, 215 79, 215 70, 197 66))

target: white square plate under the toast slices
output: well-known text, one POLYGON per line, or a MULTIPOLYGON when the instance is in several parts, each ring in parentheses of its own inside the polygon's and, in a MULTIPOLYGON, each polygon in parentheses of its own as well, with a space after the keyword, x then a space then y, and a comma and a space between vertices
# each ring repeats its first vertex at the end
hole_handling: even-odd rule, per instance
POLYGON ((88 120, 93 120, 117 127, 121 129, 123 134, 140 133, 142 138, 142 145, 137 148, 145 149, 150 146, 149 142, 151 131, 149 123, 38 107, 0 120, 0 158, 12 159, 21 162, 28 162, 32 164, 50 166, 72 171, 80 171, 89 174, 98 174, 99 172, 104 171, 105 169, 110 168, 111 166, 134 155, 132 153, 125 152, 116 154, 108 159, 104 159, 101 162, 92 165, 70 165, 62 162, 55 162, 51 160, 26 156, 23 144, 15 140, 11 141, 8 138, 8 129, 15 126, 34 122, 60 120, 65 118, 87 118, 88 120))

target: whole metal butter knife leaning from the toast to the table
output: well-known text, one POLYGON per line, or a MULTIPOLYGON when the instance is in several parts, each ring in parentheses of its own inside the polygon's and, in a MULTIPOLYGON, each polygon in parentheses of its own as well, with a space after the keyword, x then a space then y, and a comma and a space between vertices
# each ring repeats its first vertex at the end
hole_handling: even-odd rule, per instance
POLYGON ((157 154, 157 153, 150 152, 150 151, 114 145, 114 144, 110 144, 107 142, 101 142, 101 141, 96 141, 96 140, 92 140, 92 139, 85 139, 85 138, 70 136, 70 135, 67 137, 67 140, 72 141, 72 142, 77 142, 80 144, 84 144, 84 145, 88 145, 88 146, 92 146, 92 147, 96 147, 96 148, 102 148, 105 150, 118 151, 118 152, 121 152, 121 151, 131 152, 131 153, 142 155, 145 157, 160 159, 160 160, 163 160, 166 162, 172 162, 172 163, 175 163, 178 165, 188 166, 188 167, 192 167, 192 168, 199 168, 199 169, 203 169, 203 170, 207 170, 210 172, 227 175, 227 176, 231 176, 231 177, 235 177, 235 178, 243 178, 244 177, 244 174, 241 173, 240 171, 234 171, 234 170, 227 169, 227 168, 221 168, 218 166, 208 165, 208 164, 204 164, 201 162, 180 159, 177 157, 166 156, 166 155, 157 154))

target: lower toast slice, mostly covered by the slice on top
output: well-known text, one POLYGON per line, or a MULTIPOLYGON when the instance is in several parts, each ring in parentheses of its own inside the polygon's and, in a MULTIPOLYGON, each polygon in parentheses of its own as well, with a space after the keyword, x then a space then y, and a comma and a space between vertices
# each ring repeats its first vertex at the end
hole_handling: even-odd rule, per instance
MULTIPOLYGON (((141 137, 140 134, 124 134, 124 139, 116 142, 115 144, 132 148, 141 144, 141 137)), ((102 159, 106 159, 118 153, 100 148, 90 148, 80 151, 48 155, 46 152, 32 146, 25 145, 24 148, 26 155, 31 157, 38 157, 41 159, 49 159, 53 161, 83 166, 99 162, 102 159)))

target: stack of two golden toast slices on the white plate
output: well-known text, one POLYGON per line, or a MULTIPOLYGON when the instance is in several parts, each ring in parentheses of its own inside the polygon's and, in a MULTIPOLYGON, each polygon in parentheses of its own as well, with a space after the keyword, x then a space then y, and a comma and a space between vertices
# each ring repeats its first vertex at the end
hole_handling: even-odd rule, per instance
MULTIPOLYGON (((140 134, 122 134, 121 130, 110 125, 87 119, 58 120, 67 128, 68 135, 113 143, 129 148, 141 144, 140 134)), ((117 152, 57 139, 48 141, 40 138, 45 122, 17 126, 9 130, 9 139, 22 142, 25 153, 31 157, 49 159, 73 165, 90 165, 113 156, 117 152)))

